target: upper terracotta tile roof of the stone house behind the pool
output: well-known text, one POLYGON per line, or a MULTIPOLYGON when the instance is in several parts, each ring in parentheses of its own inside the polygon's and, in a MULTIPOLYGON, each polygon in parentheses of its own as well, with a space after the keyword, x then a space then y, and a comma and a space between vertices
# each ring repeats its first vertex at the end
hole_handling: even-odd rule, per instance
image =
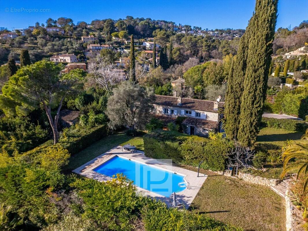
MULTIPOLYGON (((155 95, 154 104, 171 106, 171 107, 184 107, 187 109, 193 109, 197 111, 209 111, 217 112, 217 109, 214 109, 214 101, 202 100, 202 99, 189 99, 182 98, 181 106, 177 105, 178 97, 166 96, 166 95, 155 95)), ((224 102, 218 103, 218 108, 224 107, 224 102)))

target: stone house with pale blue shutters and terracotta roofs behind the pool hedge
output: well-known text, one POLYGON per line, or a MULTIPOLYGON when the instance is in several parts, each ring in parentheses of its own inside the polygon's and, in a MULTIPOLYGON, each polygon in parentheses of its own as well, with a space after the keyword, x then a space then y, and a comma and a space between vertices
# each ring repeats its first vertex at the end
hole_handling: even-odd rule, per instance
POLYGON ((153 117, 161 120, 164 125, 175 122, 176 117, 187 117, 182 125, 189 135, 208 136, 210 131, 221 132, 222 114, 218 109, 224 107, 224 102, 188 99, 165 95, 155 95, 152 111, 153 117))

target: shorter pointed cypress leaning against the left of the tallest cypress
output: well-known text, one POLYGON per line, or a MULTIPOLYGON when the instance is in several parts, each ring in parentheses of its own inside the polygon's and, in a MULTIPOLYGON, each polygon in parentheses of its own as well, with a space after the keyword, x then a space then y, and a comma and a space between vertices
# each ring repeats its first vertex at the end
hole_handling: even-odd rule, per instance
MULTIPOLYGON (((250 22, 253 21, 253 17, 250 22)), ((241 96, 246 70, 246 60, 248 55, 249 30, 248 25, 245 33, 241 37, 237 55, 234 57, 228 76, 228 88, 225 99, 225 132, 230 139, 237 139, 237 132, 240 125, 241 96)))

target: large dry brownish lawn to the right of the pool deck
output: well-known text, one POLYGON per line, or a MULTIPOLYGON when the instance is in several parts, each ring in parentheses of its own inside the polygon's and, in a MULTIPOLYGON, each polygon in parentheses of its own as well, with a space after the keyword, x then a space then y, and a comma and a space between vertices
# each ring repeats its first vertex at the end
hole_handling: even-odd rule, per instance
MULTIPOLYGON (((181 167, 197 170, 189 166, 181 167)), ((196 213, 205 213, 247 231, 286 229, 284 200, 269 187, 200 171, 209 177, 191 205, 196 213)))

